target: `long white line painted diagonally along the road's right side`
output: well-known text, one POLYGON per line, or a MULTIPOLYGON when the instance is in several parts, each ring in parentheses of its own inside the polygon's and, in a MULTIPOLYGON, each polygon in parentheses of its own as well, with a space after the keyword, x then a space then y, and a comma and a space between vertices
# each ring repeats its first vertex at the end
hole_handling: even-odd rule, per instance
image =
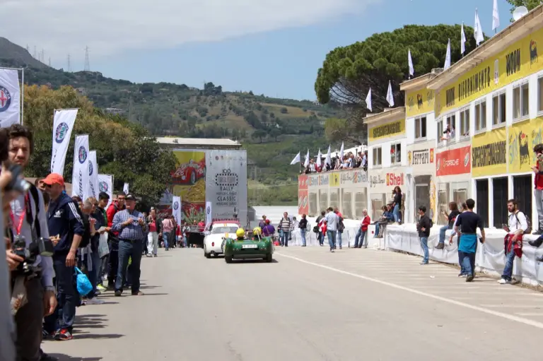
POLYGON ((347 276, 360 278, 361 280, 368 280, 370 282, 378 283, 380 285, 385 285, 385 286, 388 286, 390 288, 396 288, 397 290, 403 290, 403 291, 406 291, 406 292, 411 292, 411 293, 414 293, 415 295, 424 296, 424 297, 428 297, 428 298, 433 298, 434 300, 447 302, 447 303, 450 303, 450 304, 455 304, 456 306, 465 307, 467 309, 473 309, 474 311, 478 311, 478 312, 484 312, 485 314, 491 314, 493 316, 498 316, 498 317, 501 317, 503 319, 508 319, 509 321, 515 321, 515 322, 518 322, 520 324, 525 324, 525 325, 528 325, 528 326, 534 326, 534 327, 537 327, 537 329, 543 329, 543 323, 542 322, 537 322, 537 321, 533 321, 531 319, 525 319, 525 318, 522 318, 522 317, 514 316, 513 314, 505 314, 503 312, 497 312, 497 311, 493 311, 491 309, 485 309, 483 307, 474 306, 473 304, 467 304, 465 302, 460 302, 460 301, 457 301, 457 300, 451 300, 450 298, 441 297, 441 296, 438 296, 438 295, 432 295, 431 293, 422 292, 422 291, 419 291, 419 290, 414 290, 413 288, 405 287, 405 286, 402 286, 402 285, 396 285, 395 283, 386 282, 384 280, 378 280, 377 278, 370 278, 368 276, 362 276, 362 275, 358 275, 356 273, 343 271, 343 270, 340 270, 338 268, 324 266, 322 264, 315 264, 314 262, 305 261, 304 259, 300 259, 300 258, 295 257, 295 256, 288 256, 286 254, 281 254, 280 252, 277 252, 276 254, 278 254, 281 257, 286 257, 286 258, 289 258, 289 259, 293 259, 293 260, 301 262, 303 264, 309 264, 311 266, 324 268, 324 269, 327 269, 328 271, 334 271, 334 272, 341 273, 341 274, 344 274, 344 275, 347 275, 347 276))

